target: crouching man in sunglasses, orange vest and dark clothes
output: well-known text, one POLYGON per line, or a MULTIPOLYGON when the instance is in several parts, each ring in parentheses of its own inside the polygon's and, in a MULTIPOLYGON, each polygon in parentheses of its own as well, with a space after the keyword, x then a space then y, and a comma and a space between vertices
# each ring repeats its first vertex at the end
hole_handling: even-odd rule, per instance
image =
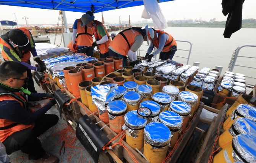
POLYGON ((53 94, 32 93, 22 87, 28 82, 27 70, 17 62, 0 65, 0 141, 8 155, 21 150, 35 163, 57 163, 58 158, 47 154, 37 139, 58 122, 58 116, 45 114, 56 100, 53 94), (41 109, 28 108, 28 101, 44 98, 51 100, 41 109))

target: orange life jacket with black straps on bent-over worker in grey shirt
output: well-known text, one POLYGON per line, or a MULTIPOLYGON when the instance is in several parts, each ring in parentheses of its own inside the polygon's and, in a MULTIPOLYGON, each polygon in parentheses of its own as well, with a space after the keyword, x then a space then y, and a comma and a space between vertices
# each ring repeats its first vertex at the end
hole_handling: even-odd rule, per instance
POLYGON ((110 43, 110 46, 122 55, 127 55, 131 46, 134 44, 134 38, 138 35, 146 36, 145 30, 139 27, 132 27, 123 30, 115 36, 115 40, 110 43))

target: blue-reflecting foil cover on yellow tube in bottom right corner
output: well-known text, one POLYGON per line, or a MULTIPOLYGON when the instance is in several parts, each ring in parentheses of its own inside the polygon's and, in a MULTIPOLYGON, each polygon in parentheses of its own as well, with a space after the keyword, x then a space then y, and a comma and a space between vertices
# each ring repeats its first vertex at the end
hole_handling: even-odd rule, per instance
POLYGON ((256 162, 256 137, 248 134, 240 134, 232 140, 239 157, 245 159, 248 163, 256 162))

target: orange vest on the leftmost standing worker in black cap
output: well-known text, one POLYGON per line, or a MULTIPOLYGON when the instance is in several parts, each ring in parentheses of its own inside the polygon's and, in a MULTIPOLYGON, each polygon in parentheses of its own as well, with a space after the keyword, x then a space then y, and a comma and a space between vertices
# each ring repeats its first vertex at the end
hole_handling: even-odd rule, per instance
MULTIPOLYGON (((22 30, 28 36, 29 44, 30 44, 30 33, 29 33, 29 30, 26 29, 26 28, 16 28, 16 29, 22 30)), ((23 61, 23 62, 28 62, 29 61, 30 56, 31 56, 30 51, 21 51, 21 50, 18 49, 18 47, 14 48, 14 47, 10 46, 8 43, 6 43, 5 40, 3 40, 2 38, 0 38, 0 44, 2 44, 3 46, 6 46, 6 47, 12 49, 19 56, 21 61, 23 61)), ((3 50, 2 50, 2 55, 3 55, 3 59, 9 60, 9 58, 6 56, 6 54, 5 54, 5 52, 3 50)))

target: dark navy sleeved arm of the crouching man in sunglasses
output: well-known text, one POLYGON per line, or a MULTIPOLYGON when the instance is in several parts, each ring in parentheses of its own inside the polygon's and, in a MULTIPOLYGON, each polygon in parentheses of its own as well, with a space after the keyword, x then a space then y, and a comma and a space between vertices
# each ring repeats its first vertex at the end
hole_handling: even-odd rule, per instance
POLYGON ((23 108, 19 101, 4 100, 0 101, 0 118, 23 125, 29 125, 42 117, 52 106, 52 103, 48 103, 41 109, 31 113, 23 108))

